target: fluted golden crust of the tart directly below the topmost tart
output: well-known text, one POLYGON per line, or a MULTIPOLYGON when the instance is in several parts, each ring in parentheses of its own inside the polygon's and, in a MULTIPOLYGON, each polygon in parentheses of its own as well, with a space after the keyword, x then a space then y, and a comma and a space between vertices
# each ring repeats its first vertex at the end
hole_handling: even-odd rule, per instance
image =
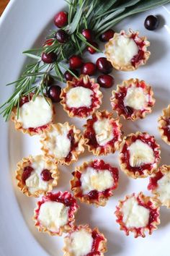
POLYGON ((155 98, 153 97, 153 90, 151 88, 151 85, 147 85, 145 81, 143 80, 138 80, 138 78, 131 78, 129 80, 124 80, 122 81, 121 85, 117 85, 117 90, 112 90, 112 97, 110 98, 111 105, 113 110, 117 111, 117 114, 119 116, 123 116, 124 119, 130 119, 131 121, 135 121, 136 119, 143 119, 146 117, 146 114, 151 113, 152 107, 155 104, 155 98), (145 88, 143 88, 143 92, 146 95, 150 95, 150 100, 151 103, 145 106, 145 111, 141 111, 140 109, 134 109, 133 114, 131 116, 126 116, 125 114, 122 113, 121 108, 116 107, 117 104, 119 103, 119 100, 115 98, 115 95, 117 93, 120 93, 121 88, 129 88, 130 85, 138 85, 138 83, 144 83, 146 85, 145 88))

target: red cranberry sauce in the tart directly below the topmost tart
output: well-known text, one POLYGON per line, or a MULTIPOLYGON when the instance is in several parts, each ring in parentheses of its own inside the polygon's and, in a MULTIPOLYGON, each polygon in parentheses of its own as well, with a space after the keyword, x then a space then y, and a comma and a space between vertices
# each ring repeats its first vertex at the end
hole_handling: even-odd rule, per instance
MULTIPOLYGON (((131 88, 132 85, 129 85, 128 87, 120 87, 119 93, 115 93, 115 99, 117 100, 117 103, 115 104, 114 108, 119 111, 119 114, 124 114, 127 118, 130 117, 134 112, 135 109, 131 108, 130 106, 125 106, 124 104, 124 98, 127 95, 128 88, 131 88), (128 109, 130 108, 130 111, 128 109)), ((146 89, 146 83, 143 81, 140 81, 136 83, 136 88, 142 88, 143 90, 146 89)), ((151 95, 150 91, 148 92, 148 95, 151 95)), ((148 106, 153 106, 153 103, 151 102, 151 99, 149 97, 148 106)), ((139 110, 138 110, 139 111, 139 110)), ((146 109, 141 110, 140 112, 146 112, 146 109)))

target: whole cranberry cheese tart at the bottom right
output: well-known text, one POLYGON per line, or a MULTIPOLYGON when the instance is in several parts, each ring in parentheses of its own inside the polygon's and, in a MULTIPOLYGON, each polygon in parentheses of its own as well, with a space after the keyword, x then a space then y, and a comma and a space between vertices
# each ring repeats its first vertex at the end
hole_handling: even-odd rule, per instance
POLYGON ((135 238, 145 237, 145 231, 152 234, 160 223, 159 205, 156 198, 147 197, 143 192, 127 195, 124 200, 119 201, 115 211, 120 230, 125 231, 127 236, 133 232, 135 238))

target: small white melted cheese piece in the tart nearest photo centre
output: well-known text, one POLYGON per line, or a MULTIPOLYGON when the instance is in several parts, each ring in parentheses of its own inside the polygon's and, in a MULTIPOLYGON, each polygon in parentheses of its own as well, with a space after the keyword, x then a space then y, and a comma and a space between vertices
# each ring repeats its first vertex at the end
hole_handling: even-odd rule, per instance
POLYGON ((109 120, 104 118, 94 122, 94 132, 96 133, 97 143, 101 146, 113 139, 112 125, 109 120))

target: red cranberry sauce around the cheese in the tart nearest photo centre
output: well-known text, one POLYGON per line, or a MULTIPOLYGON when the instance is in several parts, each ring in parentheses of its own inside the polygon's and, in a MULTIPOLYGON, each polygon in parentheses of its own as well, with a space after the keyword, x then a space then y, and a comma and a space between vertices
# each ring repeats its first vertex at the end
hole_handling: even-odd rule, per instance
MULTIPOLYGON (((108 115, 105 113, 102 113, 102 118, 108 118, 108 115)), ((120 132, 118 129, 117 124, 115 121, 110 121, 110 124, 112 125, 112 133, 114 135, 113 139, 107 142, 105 145, 99 145, 96 139, 96 133, 94 131, 94 122, 97 121, 97 116, 92 116, 92 119, 89 119, 87 121, 87 127, 84 132, 84 137, 89 140, 88 145, 93 146, 94 148, 100 148, 100 153, 104 153, 104 148, 106 148, 108 145, 115 145, 115 142, 119 140, 120 138, 120 132)))

